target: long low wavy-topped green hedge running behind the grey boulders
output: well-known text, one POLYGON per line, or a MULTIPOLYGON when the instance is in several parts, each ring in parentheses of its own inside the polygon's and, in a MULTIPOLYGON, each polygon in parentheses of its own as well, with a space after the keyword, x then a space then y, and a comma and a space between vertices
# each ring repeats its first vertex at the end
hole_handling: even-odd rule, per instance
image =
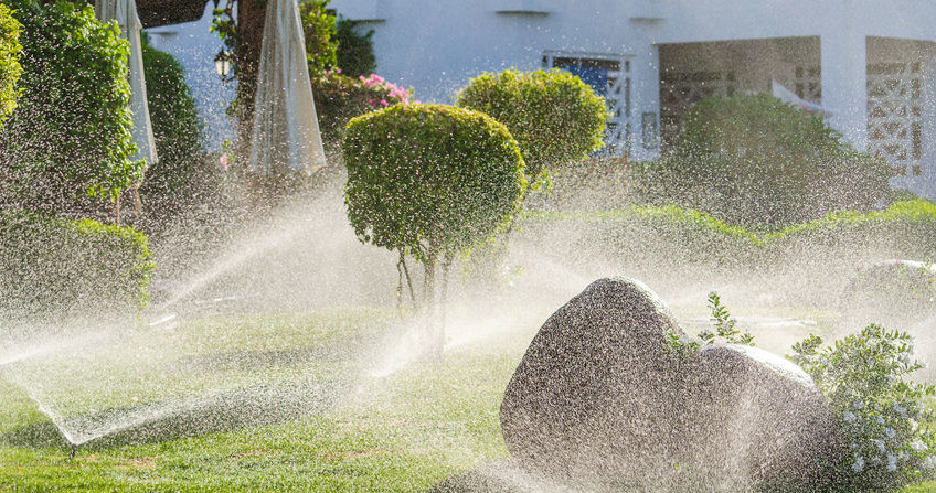
POLYGON ((767 234, 676 205, 526 213, 519 229, 534 239, 572 236, 568 255, 600 249, 621 265, 671 261, 783 270, 811 262, 853 268, 885 258, 936 259, 936 204, 922 200, 896 202, 884 211, 827 214, 767 234))

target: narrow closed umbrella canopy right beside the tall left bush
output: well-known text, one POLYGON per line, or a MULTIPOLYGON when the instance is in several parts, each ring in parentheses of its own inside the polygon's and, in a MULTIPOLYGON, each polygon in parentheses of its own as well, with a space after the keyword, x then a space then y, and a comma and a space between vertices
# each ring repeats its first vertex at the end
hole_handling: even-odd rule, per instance
POLYGON ((158 161, 156 141, 152 138, 152 125, 147 106, 146 78, 143 77, 143 54, 140 47, 140 31, 143 29, 137 17, 135 0, 97 0, 94 13, 98 20, 117 21, 124 39, 130 43, 130 109, 134 112, 134 143, 137 144, 135 159, 146 159, 149 165, 158 161))

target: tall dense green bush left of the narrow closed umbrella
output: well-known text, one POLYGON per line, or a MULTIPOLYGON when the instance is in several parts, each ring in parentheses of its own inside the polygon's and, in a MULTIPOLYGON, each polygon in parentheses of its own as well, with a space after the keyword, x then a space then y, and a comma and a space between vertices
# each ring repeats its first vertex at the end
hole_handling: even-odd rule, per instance
POLYGON ((8 205, 62 212, 88 195, 115 199, 142 179, 132 161, 129 49, 87 6, 8 0, 23 24, 22 94, 0 135, 8 205))

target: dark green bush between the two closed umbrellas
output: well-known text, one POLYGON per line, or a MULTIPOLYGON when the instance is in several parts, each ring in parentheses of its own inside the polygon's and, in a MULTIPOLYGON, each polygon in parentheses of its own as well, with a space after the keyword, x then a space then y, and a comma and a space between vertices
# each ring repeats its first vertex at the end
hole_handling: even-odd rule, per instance
POLYGON ((143 37, 149 115, 159 162, 147 170, 140 189, 147 216, 163 222, 204 202, 214 190, 217 167, 203 153, 202 119, 182 65, 143 37))

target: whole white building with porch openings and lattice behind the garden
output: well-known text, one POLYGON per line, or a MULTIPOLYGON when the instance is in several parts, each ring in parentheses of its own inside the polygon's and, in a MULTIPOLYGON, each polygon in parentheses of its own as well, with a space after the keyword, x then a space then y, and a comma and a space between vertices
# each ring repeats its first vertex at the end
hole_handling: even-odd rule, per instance
POLYGON ((821 104, 894 187, 936 199, 936 2, 932 0, 332 0, 373 29, 377 69, 424 101, 469 78, 563 67, 604 94, 609 141, 659 156, 705 96, 769 92, 821 104))

